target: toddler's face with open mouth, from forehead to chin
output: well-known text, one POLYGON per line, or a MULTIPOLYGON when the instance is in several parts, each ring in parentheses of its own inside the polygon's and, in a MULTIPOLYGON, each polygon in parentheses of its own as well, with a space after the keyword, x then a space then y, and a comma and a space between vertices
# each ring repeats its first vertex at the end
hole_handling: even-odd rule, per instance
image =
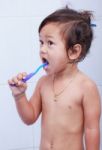
POLYGON ((45 25, 40 31, 39 39, 40 57, 42 62, 48 62, 46 72, 52 74, 63 71, 67 67, 68 56, 58 24, 45 25))

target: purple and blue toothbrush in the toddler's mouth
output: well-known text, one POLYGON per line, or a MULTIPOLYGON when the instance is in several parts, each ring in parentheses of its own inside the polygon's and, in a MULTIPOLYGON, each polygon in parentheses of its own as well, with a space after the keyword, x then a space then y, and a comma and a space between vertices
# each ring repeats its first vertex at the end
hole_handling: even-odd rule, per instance
POLYGON ((28 80, 29 80, 30 78, 32 78, 36 73, 38 73, 38 71, 39 71, 41 68, 43 68, 43 67, 45 67, 45 66, 47 66, 47 65, 48 65, 47 62, 41 64, 34 72, 28 74, 24 79, 22 79, 22 81, 23 81, 23 82, 28 81, 28 80))

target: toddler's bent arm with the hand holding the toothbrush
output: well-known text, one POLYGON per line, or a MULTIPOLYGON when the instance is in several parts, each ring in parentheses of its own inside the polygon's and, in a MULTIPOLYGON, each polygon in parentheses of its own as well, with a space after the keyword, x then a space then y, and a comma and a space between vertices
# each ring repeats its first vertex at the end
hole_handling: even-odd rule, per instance
POLYGON ((41 97, 40 97, 41 79, 39 80, 35 88, 33 96, 28 101, 25 94, 27 84, 22 82, 24 76, 25 75, 23 73, 18 74, 16 77, 9 80, 8 83, 12 90, 17 111, 21 119, 25 124, 30 125, 36 121, 41 112, 41 97), (14 84, 14 86, 12 84, 14 84))

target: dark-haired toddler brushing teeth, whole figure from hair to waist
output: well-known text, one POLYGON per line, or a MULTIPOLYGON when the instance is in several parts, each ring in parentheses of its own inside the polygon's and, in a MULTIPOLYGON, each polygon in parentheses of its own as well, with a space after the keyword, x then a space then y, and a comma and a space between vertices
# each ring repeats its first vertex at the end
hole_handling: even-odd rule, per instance
POLYGON ((42 113, 40 150, 99 150, 99 92, 94 81, 78 69, 93 39, 91 15, 62 8, 42 21, 40 57, 48 65, 29 101, 27 84, 22 81, 26 73, 8 81, 24 123, 35 123, 42 113))

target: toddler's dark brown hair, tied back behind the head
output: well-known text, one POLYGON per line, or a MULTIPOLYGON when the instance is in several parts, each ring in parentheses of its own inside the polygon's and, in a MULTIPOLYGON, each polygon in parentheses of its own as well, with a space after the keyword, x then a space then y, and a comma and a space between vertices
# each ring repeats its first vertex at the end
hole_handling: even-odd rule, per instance
POLYGON ((41 29, 49 23, 58 23, 58 25, 62 25, 61 33, 63 33, 63 37, 66 41, 66 50, 71 48, 74 52, 73 46, 75 44, 80 44, 82 47, 79 58, 75 60, 75 62, 79 62, 83 60, 89 52, 91 41, 93 39, 91 17, 92 12, 90 11, 79 12, 69 9, 68 7, 62 8, 53 12, 41 22, 39 33, 41 29))

